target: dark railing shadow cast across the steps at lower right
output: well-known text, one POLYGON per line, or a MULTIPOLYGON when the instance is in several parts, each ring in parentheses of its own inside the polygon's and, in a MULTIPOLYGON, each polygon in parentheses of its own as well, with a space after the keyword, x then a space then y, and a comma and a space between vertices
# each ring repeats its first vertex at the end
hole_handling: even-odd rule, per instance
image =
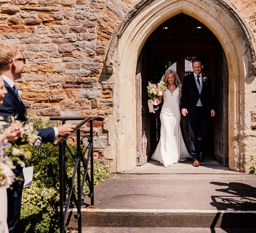
POLYGON ((238 182, 210 182, 213 185, 225 186, 216 191, 223 192, 224 195, 211 196, 212 206, 218 212, 211 224, 212 233, 214 227, 226 228, 226 232, 234 232, 232 228, 255 227, 256 210, 256 188, 238 182), (228 194, 228 195, 225 195, 228 194), (232 226, 231 229, 229 227, 232 226))

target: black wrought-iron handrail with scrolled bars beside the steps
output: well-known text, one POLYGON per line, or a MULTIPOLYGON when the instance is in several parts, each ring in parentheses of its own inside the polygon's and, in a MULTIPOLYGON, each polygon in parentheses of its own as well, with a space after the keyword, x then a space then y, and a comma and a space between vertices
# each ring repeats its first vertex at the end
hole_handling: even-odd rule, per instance
MULTIPOLYGON (((85 204, 82 196, 85 183, 89 188, 88 197, 91 198, 91 206, 94 205, 94 181, 93 181, 93 117, 50 117, 50 120, 61 120, 62 124, 65 124, 67 120, 82 120, 79 122, 72 133, 76 132, 76 151, 72 153, 71 148, 67 144, 66 137, 59 137, 53 142, 55 146, 59 145, 59 169, 60 169, 60 232, 66 232, 71 219, 73 208, 77 210, 75 217, 78 222, 78 232, 82 232, 82 215, 81 205, 85 204), (85 150, 82 151, 81 144, 83 139, 81 138, 80 128, 86 123, 90 122, 90 137, 88 137, 88 145, 85 150), (74 166, 73 172, 70 176, 67 172, 66 162, 67 154, 69 153, 73 159, 74 166), (90 160, 90 168, 88 168, 90 160), (88 170, 90 169, 90 176, 88 170), (75 178, 77 177, 77 185, 75 185, 75 178)), ((71 133, 71 134, 72 134, 71 133)), ((72 138, 73 142, 75 139, 72 138)), ((87 205, 88 206, 88 205, 87 205)))

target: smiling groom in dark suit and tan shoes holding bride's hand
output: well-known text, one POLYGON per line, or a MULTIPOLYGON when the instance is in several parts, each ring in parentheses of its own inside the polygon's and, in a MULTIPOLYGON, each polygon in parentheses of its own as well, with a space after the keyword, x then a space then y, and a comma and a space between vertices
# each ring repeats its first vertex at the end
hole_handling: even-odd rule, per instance
POLYGON ((212 95, 211 79, 202 74, 203 65, 199 59, 192 62, 193 73, 183 79, 181 96, 181 113, 186 116, 186 128, 188 129, 190 151, 193 158, 193 166, 199 167, 197 161, 196 132, 200 127, 202 140, 199 148, 199 160, 203 161, 204 151, 208 137, 208 113, 215 116, 214 98, 212 95), (200 122, 200 126, 199 123, 200 122))

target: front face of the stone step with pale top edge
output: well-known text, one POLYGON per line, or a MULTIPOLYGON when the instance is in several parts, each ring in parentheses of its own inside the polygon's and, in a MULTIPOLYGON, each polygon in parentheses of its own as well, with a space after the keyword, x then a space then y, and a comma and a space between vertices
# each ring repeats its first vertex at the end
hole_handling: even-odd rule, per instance
MULTIPOLYGON (((83 227, 254 228, 255 219, 256 211, 232 210, 88 208, 82 212, 83 227)), ((77 228, 77 220, 72 218, 69 226, 77 228)))

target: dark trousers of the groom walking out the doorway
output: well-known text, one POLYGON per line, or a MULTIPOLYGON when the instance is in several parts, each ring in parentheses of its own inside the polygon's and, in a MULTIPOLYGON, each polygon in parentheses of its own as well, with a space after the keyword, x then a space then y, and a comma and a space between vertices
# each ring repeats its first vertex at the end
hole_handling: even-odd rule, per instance
POLYGON ((196 160, 196 139, 197 132, 201 131, 201 145, 199 151, 204 152, 208 139, 208 116, 203 107, 195 107, 188 117, 188 135, 190 142, 190 151, 193 160, 196 160))

